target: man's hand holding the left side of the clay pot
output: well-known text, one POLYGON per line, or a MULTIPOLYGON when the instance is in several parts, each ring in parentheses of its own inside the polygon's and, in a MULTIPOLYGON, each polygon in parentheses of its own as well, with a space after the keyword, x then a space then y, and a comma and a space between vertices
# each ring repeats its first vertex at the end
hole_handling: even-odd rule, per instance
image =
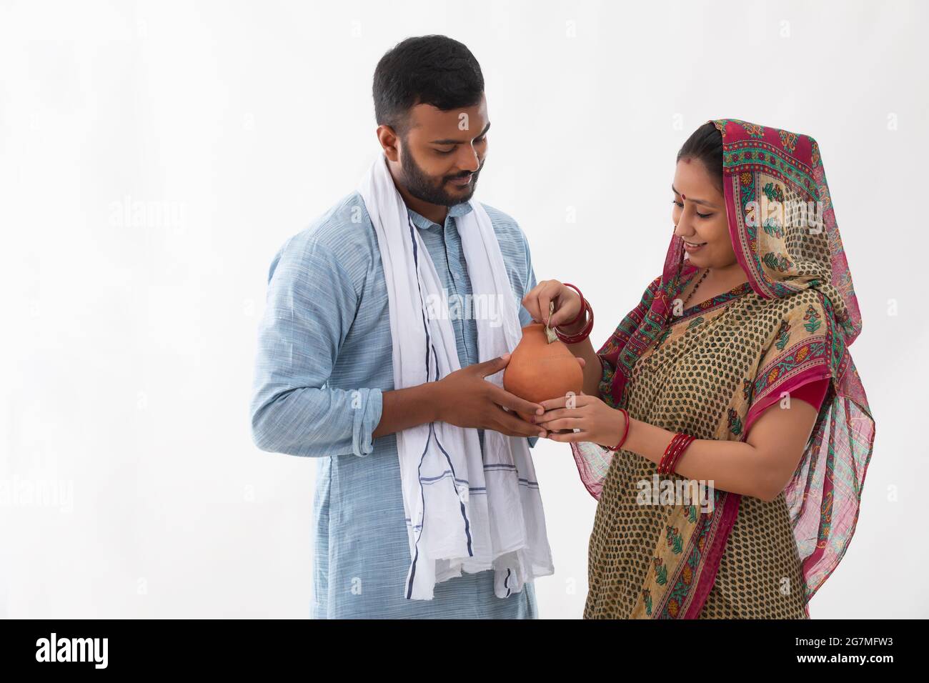
POLYGON ((545 436, 544 429, 504 410, 535 414, 541 404, 524 401, 484 379, 499 373, 509 361, 510 354, 504 353, 438 380, 438 419, 457 427, 492 429, 508 437, 545 436))

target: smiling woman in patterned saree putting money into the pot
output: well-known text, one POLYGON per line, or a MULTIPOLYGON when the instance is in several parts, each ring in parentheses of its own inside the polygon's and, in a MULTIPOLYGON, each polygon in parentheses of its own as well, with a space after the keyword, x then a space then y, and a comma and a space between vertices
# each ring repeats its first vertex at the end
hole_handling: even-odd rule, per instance
POLYGON ((599 351, 571 286, 523 302, 539 322, 554 302, 548 322, 584 367, 583 395, 535 416, 599 501, 584 617, 808 618, 855 530, 874 439, 818 145, 712 121, 679 152, 673 192, 663 273, 599 351))

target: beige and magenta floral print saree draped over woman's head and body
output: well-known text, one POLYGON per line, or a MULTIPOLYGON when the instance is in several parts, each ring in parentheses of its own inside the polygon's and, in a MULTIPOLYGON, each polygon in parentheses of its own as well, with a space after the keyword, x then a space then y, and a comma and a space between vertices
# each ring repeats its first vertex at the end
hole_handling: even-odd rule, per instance
POLYGON ((829 386, 773 501, 659 476, 637 453, 571 444, 598 499, 586 618, 805 618, 855 531, 874 421, 848 352, 861 318, 818 145, 713 123, 747 282, 675 309, 697 269, 673 237, 661 277, 597 351, 601 397, 670 431, 745 440, 772 404, 786 407, 812 382, 829 386))

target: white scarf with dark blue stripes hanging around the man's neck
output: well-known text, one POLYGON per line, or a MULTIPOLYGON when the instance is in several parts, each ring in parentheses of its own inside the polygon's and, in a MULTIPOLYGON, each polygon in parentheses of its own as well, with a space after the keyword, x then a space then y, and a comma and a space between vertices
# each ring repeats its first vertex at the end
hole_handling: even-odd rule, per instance
MULTIPOLYGON (((384 265, 394 388, 441 379, 461 367, 448 298, 383 154, 359 191, 384 265)), ((516 348, 522 329, 491 218, 479 202, 471 207, 457 226, 483 362, 516 348)), ((503 373, 487 381, 502 387, 503 373)), ((491 569, 495 595, 506 598, 555 571, 524 437, 485 430, 481 453, 477 429, 434 422, 399 431, 397 450, 410 540, 405 598, 432 599, 436 584, 491 569)))

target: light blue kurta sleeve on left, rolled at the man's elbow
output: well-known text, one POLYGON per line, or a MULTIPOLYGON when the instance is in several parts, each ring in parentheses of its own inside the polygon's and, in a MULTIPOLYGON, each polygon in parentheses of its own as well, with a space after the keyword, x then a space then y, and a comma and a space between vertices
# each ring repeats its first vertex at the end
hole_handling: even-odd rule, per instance
POLYGON ((268 273, 251 403, 252 438, 263 451, 321 457, 373 452, 379 388, 326 387, 359 296, 332 250, 299 235, 268 273))

